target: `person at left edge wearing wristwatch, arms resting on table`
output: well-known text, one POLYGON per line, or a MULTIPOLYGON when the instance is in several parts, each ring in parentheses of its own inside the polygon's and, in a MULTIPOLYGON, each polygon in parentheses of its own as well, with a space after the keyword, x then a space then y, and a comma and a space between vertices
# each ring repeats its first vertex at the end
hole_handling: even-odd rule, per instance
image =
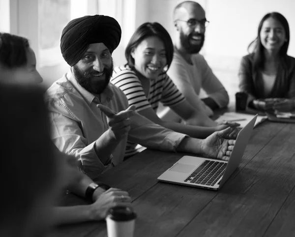
MULTIPOLYGON (((16 84, 21 86, 31 86, 35 88, 43 81, 42 77, 36 70, 36 58, 33 50, 29 46, 28 39, 9 33, 0 33, 0 82, 16 84)), ((28 86, 28 88, 29 88, 28 86)), ((43 92, 45 90, 41 89, 43 92)), ((17 91, 10 91, 16 93, 17 91)), ((17 95, 17 94, 16 94, 17 95)), ((38 103, 43 102, 43 98, 38 98, 38 103)), ((26 100, 26 98, 24 98, 26 100)), ((20 99, 20 104, 27 108, 30 113, 30 107, 34 101, 24 103, 20 99)), ((15 116, 18 116, 16 113, 15 116)), ((41 122, 41 121, 40 121, 41 122)), ((130 205, 130 197, 127 192, 117 188, 110 188, 106 184, 95 183, 88 176, 78 169, 77 160, 70 155, 61 153, 56 146, 52 145, 52 158, 59 159, 63 162, 63 172, 69 177, 65 186, 71 192, 85 197, 91 202, 90 205, 56 207, 55 208, 55 224, 74 223, 90 220, 101 220, 106 216, 106 212, 110 207, 118 205, 130 205)), ((39 161, 41 161, 40 156, 39 161)))

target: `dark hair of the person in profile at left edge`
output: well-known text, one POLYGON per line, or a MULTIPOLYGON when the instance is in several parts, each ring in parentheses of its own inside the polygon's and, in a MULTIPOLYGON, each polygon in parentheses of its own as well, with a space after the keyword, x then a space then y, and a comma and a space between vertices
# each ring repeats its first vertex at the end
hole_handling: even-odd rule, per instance
POLYGON ((25 66, 28 48, 28 39, 0 32, 0 65, 10 69, 25 66))

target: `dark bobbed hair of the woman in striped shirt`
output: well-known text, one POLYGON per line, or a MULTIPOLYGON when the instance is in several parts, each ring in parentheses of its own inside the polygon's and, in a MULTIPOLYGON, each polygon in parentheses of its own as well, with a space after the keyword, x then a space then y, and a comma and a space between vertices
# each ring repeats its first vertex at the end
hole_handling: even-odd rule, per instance
POLYGON ((161 24, 154 22, 154 23, 144 23, 142 24, 131 36, 129 43, 125 50, 125 57, 127 60, 128 66, 134 69, 134 59, 131 56, 131 52, 147 37, 149 36, 157 36, 159 37, 165 46, 166 50, 166 59, 168 68, 171 65, 173 59, 173 42, 167 30, 162 27, 161 24))

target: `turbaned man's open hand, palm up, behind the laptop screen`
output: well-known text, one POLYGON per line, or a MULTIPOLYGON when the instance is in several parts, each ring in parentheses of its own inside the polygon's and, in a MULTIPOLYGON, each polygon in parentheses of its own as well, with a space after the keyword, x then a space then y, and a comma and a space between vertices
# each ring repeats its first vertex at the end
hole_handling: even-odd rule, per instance
POLYGON ((228 127, 222 131, 214 132, 204 139, 202 141, 202 152, 215 159, 229 160, 236 141, 224 137, 230 135, 234 129, 228 127))

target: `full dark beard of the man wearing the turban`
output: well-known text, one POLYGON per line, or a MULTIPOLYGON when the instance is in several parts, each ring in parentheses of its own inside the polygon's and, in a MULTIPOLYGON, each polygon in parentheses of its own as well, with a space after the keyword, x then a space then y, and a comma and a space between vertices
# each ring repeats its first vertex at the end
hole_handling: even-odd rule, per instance
POLYGON ((91 83, 91 77, 94 77, 97 74, 97 71, 81 71, 77 64, 73 66, 72 70, 75 75, 77 82, 81 87, 88 90, 92 94, 101 94, 109 85, 111 76, 113 74, 114 64, 112 62, 110 67, 105 67, 103 69, 103 75, 105 76, 105 80, 103 82, 97 82, 95 84, 91 83))

